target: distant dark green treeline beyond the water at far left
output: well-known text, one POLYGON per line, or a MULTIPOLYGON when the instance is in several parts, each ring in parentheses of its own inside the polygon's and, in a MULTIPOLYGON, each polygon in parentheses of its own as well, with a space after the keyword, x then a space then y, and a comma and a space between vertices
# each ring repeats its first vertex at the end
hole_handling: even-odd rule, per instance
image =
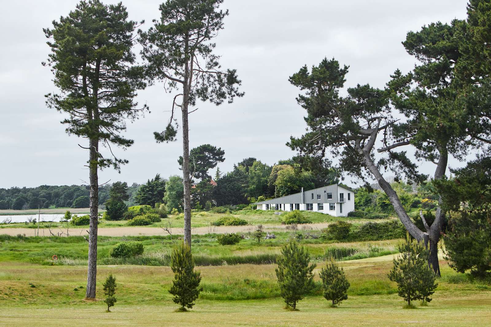
MULTIPOLYGON (((140 184, 133 183, 128 188, 132 205, 133 195, 140 184)), ((99 187, 99 205, 109 199, 111 184, 99 187)), ((89 206, 89 187, 87 185, 41 185, 37 187, 0 188, 0 209, 37 209, 49 207, 86 208, 89 206)))

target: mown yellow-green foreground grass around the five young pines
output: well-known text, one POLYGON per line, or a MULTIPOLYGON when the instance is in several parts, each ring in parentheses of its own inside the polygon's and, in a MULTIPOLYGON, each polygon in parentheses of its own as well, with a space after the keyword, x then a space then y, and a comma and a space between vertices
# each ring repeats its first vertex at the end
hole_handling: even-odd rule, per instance
POLYGON ((190 312, 177 313, 167 292, 168 267, 100 266, 98 301, 86 302, 83 266, 2 263, 0 326, 486 326, 491 321, 491 286, 455 273, 444 261, 434 300, 417 309, 402 308, 386 277, 391 256, 340 264, 352 287, 338 308, 329 308, 314 292, 299 302, 300 311, 284 310, 275 265, 234 265, 198 267, 202 296, 190 312), (118 302, 106 313, 102 281, 109 273, 117 278, 118 302))

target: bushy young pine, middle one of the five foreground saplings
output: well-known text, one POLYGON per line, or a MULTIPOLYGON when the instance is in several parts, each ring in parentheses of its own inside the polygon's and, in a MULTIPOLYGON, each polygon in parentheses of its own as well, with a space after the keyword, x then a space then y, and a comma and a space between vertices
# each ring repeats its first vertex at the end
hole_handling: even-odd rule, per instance
POLYGON ((276 257, 276 277, 281 297, 288 307, 297 310, 297 302, 313 288, 315 264, 309 265, 310 256, 304 247, 299 247, 295 239, 290 240, 276 257))

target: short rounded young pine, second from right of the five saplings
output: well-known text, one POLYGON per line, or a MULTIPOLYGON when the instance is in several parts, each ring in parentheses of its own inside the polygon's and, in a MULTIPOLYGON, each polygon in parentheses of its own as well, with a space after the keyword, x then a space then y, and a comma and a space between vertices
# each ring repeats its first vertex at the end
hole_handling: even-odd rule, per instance
POLYGON ((348 288, 350 283, 344 276, 343 268, 340 268, 333 257, 327 261, 325 268, 322 268, 320 277, 324 289, 324 297, 327 301, 332 301, 331 307, 348 299, 348 288))

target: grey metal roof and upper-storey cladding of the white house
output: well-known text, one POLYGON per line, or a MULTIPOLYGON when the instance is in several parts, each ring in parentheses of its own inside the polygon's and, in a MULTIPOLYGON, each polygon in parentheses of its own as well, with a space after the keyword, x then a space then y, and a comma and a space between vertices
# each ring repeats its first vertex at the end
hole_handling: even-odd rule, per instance
MULTIPOLYGON (((345 190, 342 186, 339 186, 340 192, 345 190)), ((350 191, 346 189, 346 191, 350 191)), ((281 198, 255 202, 253 204, 276 204, 276 203, 335 203, 338 201, 339 192, 338 192, 338 184, 332 184, 324 187, 319 187, 309 191, 303 191, 304 200, 301 200, 301 192, 287 195, 281 198), (332 193, 332 200, 327 200, 327 193, 332 193), (312 194, 313 198, 312 199, 312 194), (317 199, 317 195, 321 196, 321 199, 317 199)), ((347 195, 344 196, 344 199, 348 198, 347 195)))

